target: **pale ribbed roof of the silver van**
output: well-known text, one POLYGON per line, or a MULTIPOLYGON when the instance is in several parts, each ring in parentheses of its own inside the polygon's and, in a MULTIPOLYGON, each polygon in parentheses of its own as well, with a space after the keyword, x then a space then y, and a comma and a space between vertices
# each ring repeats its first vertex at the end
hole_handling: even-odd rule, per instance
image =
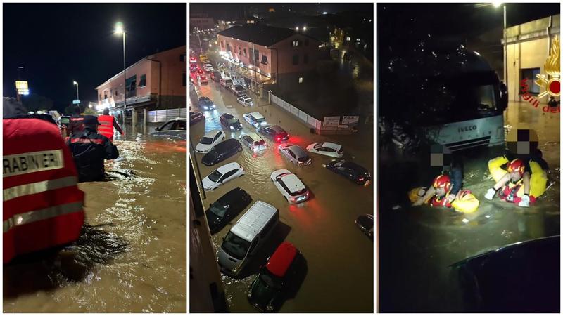
POLYGON ((256 235, 258 235, 260 228, 263 228, 277 212, 274 206, 266 202, 257 201, 244 213, 241 219, 236 222, 231 228, 231 232, 247 242, 252 242, 256 235))

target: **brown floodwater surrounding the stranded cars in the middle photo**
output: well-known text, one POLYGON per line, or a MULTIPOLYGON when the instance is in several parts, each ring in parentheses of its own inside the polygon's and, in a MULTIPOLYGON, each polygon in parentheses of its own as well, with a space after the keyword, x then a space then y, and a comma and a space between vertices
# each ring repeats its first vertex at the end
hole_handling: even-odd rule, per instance
MULTIPOLYGON (((253 107, 236 103, 233 93, 220 84, 198 86, 203 96, 208 96, 217 109, 206 111, 205 121, 190 127, 190 140, 195 147, 204 133, 213 129, 224 130, 219 123, 222 113, 233 114, 241 121, 242 131, 229 132, 227 138, 239 138, 241 133, 255 131, 243 120, 248 112, 260 112, 269 124, 277 124, 289 134, 289 142, 305 148, 311 143, 332 141, 343 145, 343 159, 352 160, 373 174, 372 130, 360 131, 355 136, 320 136, 311 134, 307 126, 296 121, 291 114, 276 105, 266 105, 267 100, 254 96, 253 107)), ((199 111, 196 104, 192 109, 199 111)), ((248 147, 215 166, 201 164, 203 154, 196 154, 201 177, 208 176, 217 167, 229 162, 238 162, 246 175, 229 181, 213 192, 205 192, 205 209, 224 193, 241 187, 251 195, 253 202, 261 200, 279 209, 280 225, 270 240, 253 257, 246 273, 239 278, 222 275, 227 304, 230 312, 255 312, 248 303, 248 288, 256 277, 258 267, 266 263, 267 257, 283 241, 291 242, 301 251, 306 261, 306 270, 299 280, 300 287, 285 301, 279 312, 373 312, 374 305, 374 244, 356 227, 354 220, 365 213, 373 212, 373 185, 363 187, 332 173, 322 167, 330 157, 310 153, 312 164, 298 167, 281 157, 277 144, 265 139, 267 150, 253 154, 248 147), (277 169, 288 169, 300 178, 312 193, 312 198, 301 204, 290 205, 272 184, 270 174, 277 169)), ((190 154, 194 154, 190 150, 190 154)), ((215 249, 219 249, 222 237, 236 220, 213 235, 215 249)))

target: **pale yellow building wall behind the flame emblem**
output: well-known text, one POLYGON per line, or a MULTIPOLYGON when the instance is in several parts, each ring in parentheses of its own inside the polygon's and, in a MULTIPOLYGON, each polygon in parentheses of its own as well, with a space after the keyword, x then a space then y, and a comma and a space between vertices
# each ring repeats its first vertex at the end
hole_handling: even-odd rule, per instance
MULTIPOLYGON (((546 79, 552 78, 548 76, 544 65, 555 37, 560 38, 560 18, 560 15, 553 15, 507 28, 507 88, 510 101, 524 100, 521 91, 524 79, 527 79, 528 92, 532 96, 545 91, 545 86, 538 86, 534 81, 538 80, 538 74, 546 79)), ((502 77, 502 74, 499 76, 502 77)), ((556 99, 559 100, 559 96, 556 99)), ((547 103, 548 100, 539 99, 540 103, 547 103)))

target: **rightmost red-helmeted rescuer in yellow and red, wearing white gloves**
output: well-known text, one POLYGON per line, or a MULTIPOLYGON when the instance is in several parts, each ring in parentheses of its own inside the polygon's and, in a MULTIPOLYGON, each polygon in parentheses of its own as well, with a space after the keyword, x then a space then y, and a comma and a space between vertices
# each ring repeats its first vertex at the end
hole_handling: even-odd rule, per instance
POLYGON ((489 188, 485 198, 492 200, 496 192, 500 199, 518 206, 529 207, 531 203, 543 195, 548 184, 547 163, 541 157, 541 151, 536 150, 535 156, 528 159, 512 159, 501 156, 488 162, 488 169, 495 180, 495 185, 489 188), (507 164, 508 163, 508 164, 507 164), (507 169, 502 165, 507 164, 507 169))

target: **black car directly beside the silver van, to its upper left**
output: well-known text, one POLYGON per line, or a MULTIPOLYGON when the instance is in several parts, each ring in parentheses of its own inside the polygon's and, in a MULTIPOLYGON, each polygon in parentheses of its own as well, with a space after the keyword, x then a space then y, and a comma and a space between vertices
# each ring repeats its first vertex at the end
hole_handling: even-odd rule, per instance
POLYGON ((251 196, 240 187, 225 193, 205 211, 210 232, 212 234, 220 232, 229 221, 239 215, 251 202, 251 196))

